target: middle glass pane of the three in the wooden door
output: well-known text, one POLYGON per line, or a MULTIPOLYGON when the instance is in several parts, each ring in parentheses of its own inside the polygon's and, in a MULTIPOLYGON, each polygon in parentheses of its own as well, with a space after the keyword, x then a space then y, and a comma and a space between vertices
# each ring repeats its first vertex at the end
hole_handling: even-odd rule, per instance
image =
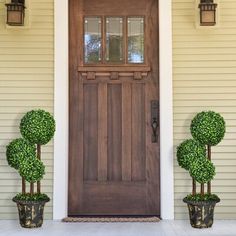
POLYGON ((119 63, 123 61, 123 19, 106 18, 106 61, 119 63))

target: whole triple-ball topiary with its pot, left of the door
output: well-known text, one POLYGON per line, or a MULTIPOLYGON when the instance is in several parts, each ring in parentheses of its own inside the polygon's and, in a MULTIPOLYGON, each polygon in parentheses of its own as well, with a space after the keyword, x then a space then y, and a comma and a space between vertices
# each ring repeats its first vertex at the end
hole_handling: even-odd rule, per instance
POLYGON ((50 113, 33 110, 22 118, 20 131, 23 138, 10 142, 6 150, 8 164, 22 177, 22 192, 13 201, 18 207, 21 226, 36 228, 42 226, 44 205, 50 200, 46 194, 41 193, 40 181, 45 174, 45 166, 41 161, 41 145, 52 139, 55 121, 50 113), (26 182, 30 183, 30 192, 26 191, 26 182), (37 192, 34 190, 36 182, 37 192))

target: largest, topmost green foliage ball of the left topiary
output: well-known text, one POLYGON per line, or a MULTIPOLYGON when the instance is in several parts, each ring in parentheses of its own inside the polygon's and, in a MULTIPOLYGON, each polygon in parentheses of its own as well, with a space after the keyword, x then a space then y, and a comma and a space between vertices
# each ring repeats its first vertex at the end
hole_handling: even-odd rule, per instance
POLYGON ((54 136, 55 120, 47 111, 29 111, 21 120, 20 132, 32 143, 47 144, 54 136))

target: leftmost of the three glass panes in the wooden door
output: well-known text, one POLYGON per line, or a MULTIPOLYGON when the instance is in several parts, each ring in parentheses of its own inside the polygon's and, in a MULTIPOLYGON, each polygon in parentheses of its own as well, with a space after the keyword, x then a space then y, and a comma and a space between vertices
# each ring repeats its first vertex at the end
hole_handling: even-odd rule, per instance
POLYGON ((102 34, 101 18, 84 18, 84 61, 98 63, 101 61, 102 34))

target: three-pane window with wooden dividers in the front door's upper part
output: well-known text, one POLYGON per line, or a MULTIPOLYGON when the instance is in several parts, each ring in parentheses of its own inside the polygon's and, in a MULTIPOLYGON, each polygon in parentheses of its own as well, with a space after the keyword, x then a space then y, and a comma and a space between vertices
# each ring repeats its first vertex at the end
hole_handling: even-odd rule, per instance
POLYGON ((84 64, 145 64, 143 16, 85 16, 83 24, 84 64))

